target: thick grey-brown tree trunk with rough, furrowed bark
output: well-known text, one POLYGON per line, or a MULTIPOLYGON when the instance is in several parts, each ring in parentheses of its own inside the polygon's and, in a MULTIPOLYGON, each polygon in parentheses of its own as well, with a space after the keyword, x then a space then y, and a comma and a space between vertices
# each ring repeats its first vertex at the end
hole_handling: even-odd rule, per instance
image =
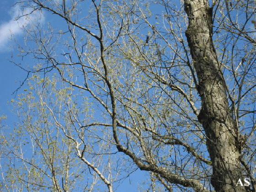
POLYGON ((241 150, 238 128, 229 111, 229 102, 221 64, 212 41, 212 8, 207 0, 185 0, 184 9, 189 19, 186 37, 196 69, 197 91, 202 108, 198 121, 207 136, 207 147, 212 160, 211 183, 216 192, 246 192, 237 182, 242 178, 241 150))

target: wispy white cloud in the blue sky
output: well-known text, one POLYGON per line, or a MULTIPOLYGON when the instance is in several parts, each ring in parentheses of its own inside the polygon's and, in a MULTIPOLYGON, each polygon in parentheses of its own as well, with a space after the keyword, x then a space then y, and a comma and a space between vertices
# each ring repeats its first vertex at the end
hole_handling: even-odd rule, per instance
POLYGON ((24 27, 31 25, 34 22, 43 22, 43 15, 40 11, 32 12, 32 9, 26 8, 21 10, 21 7, 16 5, 12 8, 9 12, 12 16, 9 22, 2 23, 0 25, 0 51, 4 52, 7 51, 13 43, 11 38, 18 37, 23 34, 24 27), (22 16, 18 20, 16 18, 21 15, 22 16))

